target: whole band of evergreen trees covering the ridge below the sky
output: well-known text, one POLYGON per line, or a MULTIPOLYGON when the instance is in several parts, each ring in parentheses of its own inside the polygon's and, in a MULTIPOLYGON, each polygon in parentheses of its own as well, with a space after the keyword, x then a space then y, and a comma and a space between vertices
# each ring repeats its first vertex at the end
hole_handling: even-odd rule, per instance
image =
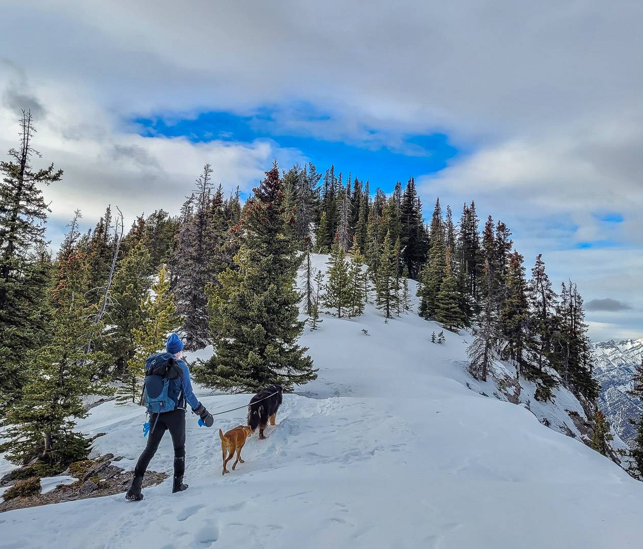
POLYGON ((14 461, 53 471, 86 456, 74 430, 82 397, 140 402, 145 358, 171 331, 188 351, 213 346, 194 365, 201 384, 288 390, 316 378, 298 345, 300 313, 313 330, 322 310, 356 317, 367 302, 395 319, 413 308, 409 280, 424 319, 473 330, 476 377, 511 360, 539 400, 560 383, 588 402, 598 395, 575 284, 555 293, 541 256, 527 280, 509 228, 489 216, 480 230, 473 202, 456 223, 437 200, 426 224, 413 178, 386 196, 312 163, 275 163, 242 202, 238 188, 215 187, 206 164, 179 215, 156 210, 125 232, 107 207, 81 232, 77 212, 54 255, 42 188, 63 173, 32 168, 34 135, 26 112, 19 147, 0 164, 0 415, 11 425, 0 450, 14 461), (313 253, 329 254, 325 280, 313 253))

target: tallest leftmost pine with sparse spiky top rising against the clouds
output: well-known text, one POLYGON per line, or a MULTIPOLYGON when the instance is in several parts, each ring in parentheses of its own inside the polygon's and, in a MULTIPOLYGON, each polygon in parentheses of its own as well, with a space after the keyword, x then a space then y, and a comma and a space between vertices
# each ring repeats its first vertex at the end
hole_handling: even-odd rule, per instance
POLYGON ((34 171, 32 114, 23 111, 20 143, 0 162, 0 409, 22 386, 24 355, 44 337, 40 304, 48 266, 42 263, 45 223, 50 209, 42 188, 62 179, 53 164, 34 171))

